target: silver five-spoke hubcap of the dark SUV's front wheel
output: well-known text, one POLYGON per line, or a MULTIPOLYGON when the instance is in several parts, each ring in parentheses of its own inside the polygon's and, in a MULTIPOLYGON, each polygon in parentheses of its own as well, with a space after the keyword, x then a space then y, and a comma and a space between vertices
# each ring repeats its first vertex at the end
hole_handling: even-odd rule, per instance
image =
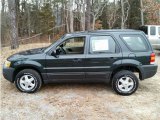
POLYGON ((31 90, 35 87, 35 79, 31 75, 23 75, 20 78, 20 86, 24 90, 31 90))

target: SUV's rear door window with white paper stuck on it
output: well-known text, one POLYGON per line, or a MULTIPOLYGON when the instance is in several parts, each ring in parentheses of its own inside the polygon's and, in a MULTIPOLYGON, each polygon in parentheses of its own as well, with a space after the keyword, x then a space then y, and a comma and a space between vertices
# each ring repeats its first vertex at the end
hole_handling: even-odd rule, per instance
POLYGON ((116 43, 110 36, 91 36, 90 53, 115 53, 116 43))

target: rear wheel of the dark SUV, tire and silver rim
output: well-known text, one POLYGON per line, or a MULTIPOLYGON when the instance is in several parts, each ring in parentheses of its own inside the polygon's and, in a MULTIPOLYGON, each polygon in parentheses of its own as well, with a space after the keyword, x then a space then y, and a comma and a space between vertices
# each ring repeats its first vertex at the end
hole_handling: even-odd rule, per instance
POLYGON ((136 75, 128 70, 117 72, 112 79, 112 88, 119 95, 131 95, 138 88, 139 82, 136 75))

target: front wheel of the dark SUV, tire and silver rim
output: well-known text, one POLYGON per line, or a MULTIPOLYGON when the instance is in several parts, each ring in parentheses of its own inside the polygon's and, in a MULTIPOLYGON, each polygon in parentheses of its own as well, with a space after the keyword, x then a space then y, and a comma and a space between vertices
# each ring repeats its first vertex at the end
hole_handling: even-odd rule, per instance
POLYGON ((39 73, 32 69, 24 69, 15 77, 17 89, 25 93, 34 93, 42 86, 42 79, 39 73))

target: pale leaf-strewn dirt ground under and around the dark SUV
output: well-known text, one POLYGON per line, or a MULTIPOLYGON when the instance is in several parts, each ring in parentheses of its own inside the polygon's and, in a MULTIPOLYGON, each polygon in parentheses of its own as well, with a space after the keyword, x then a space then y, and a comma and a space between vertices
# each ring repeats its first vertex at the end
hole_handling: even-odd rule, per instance
MULTIPOLYGON (((16 51, 2 49, 2 63, 16 51)), ((131 96, 117 95, 106 84, 43 85, 34 94, 19 92, 3 77, 0 85, 2 120, 160 120, 160 68, 131 96)))

